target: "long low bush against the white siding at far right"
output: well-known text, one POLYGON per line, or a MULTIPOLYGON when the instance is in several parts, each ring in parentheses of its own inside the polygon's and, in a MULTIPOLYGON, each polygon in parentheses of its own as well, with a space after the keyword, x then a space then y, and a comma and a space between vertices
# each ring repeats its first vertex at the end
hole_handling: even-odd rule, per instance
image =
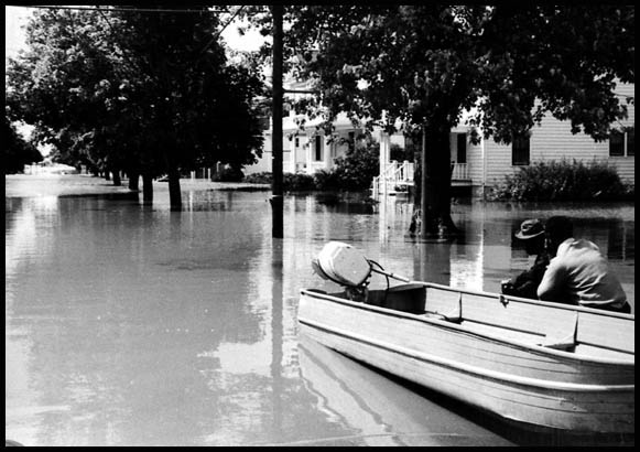
MULTIPOLYGON (((630 189, 634 191, 634 189, 630 189)), ((493 201, 619 200, 629 192, 615 168, 596 160, 535 162, 505 177, 489 198, 493 201)))

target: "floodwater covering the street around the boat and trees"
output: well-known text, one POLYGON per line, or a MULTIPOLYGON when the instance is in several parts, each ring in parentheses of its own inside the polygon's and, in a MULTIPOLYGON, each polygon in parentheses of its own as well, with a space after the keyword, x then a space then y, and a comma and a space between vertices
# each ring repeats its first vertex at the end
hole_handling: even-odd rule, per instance
MULTIPOLYGON (((509 445, 539 441, 300 336, 328 240, 412 279, 496 291, 532 263, 529 217, 568 215, 634 304, 633 204, 458 203, 454 241, 406 236, 411 204, 166 184, 153 205, 86 176, 7 176, 6 438, 25 445, 509 445)), ((386 281, 372 281, 372 287, 386 281)), ((546 441, 546 440, 543 440, 546 441)))

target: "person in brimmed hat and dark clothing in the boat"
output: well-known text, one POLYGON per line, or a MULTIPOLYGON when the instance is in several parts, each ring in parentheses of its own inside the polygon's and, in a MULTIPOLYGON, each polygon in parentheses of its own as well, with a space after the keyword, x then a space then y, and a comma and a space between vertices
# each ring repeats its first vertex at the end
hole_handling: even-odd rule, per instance
POLYGON ((542 281, 549 255, 544 249, 544 226, 538 218, 527 219, 514 234, 516 238, 524 241, 524 249, 529 256, 535 257, 533 266, 516 278, 505 280, 501 283, 502 293, 521 298, 538 299, 538 286, 542 281))

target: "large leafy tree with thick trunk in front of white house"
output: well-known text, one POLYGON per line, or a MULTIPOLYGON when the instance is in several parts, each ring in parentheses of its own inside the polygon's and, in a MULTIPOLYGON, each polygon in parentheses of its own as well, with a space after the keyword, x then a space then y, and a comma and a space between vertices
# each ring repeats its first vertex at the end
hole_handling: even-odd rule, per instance
POLYGON ((546 112, 604 140, 627 112, 617 79, 634 80, 632 6, 296 6, 285 20, 290 62, 328 121, 347 111, 424 133, 424 235, 457 232, 448 133, 465 109, 502 143, 546 112))

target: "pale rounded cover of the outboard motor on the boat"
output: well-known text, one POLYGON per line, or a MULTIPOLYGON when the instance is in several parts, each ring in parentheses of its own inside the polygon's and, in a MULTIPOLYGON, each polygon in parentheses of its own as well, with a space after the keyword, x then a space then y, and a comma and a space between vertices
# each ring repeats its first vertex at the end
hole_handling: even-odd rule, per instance
POLYGON ((360 286, 371 275, 371 265, 356 248, 329 241, 317 256, 317 265, 332 280, 344 286, 360 286))

